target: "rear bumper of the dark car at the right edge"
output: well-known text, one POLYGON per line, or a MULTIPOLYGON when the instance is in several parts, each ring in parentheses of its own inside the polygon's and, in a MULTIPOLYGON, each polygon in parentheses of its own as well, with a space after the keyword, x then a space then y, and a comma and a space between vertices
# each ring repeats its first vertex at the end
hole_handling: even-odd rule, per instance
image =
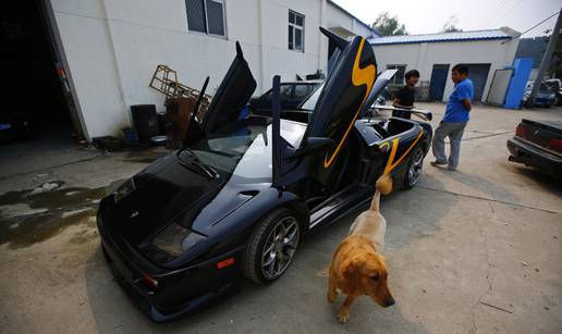
POLYGON ((561 176, 562 158, 546 149, 516 137, 508 139, 508 148, 511 153, 510 161, 537 168, 557 177, 561 176))

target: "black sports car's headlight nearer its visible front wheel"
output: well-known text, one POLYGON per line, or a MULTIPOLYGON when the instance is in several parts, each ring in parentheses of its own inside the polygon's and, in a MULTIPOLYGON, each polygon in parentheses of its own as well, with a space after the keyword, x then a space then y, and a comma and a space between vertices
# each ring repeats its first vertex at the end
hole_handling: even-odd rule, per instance
POLYGON ((152 245, 169 255, 179 257, 205 239, 204 235, 171 223, 152 239, 152 245))

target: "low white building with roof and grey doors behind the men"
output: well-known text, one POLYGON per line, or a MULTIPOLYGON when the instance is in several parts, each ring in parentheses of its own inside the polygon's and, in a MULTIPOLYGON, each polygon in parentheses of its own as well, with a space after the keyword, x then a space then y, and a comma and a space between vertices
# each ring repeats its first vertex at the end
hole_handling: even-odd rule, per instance
POLYGON ((447 101, 453 90, 451 69, 468 65, 475 84, 475 100, 486 101, 496 70, 513 64, 520 41, 510 28, 427 35, 390 36, 369 39, 379 71, 399 69, 393 84, 404 84, 404 73, 417 70, 420 82, 429 83, 433 100, 447 101))

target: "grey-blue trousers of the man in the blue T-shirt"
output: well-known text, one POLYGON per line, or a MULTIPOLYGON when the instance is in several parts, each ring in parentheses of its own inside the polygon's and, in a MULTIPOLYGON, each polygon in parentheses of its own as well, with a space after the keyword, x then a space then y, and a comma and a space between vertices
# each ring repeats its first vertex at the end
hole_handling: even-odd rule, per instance
POLYGON ((444 153, 444 138, 449 137, 451 151, 449 154, 449 168, 456 170, 459 157, 461 156, 461 140, 463 139, 464 127, 467 122, 442 122, 433 135, 433 156, 438 163, 447 163, 444 153))

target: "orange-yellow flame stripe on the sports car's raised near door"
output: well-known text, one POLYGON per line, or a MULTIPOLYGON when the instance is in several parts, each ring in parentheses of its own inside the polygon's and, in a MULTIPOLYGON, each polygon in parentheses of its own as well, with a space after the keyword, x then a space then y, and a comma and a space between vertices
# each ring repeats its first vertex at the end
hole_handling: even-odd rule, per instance
POLYGON ((352 71, 352 84, 354 86, 362 86, 367 85, 367 89, 365 91, 365 97, 363 98, 363 101, 361 102, 359 108, 357 111, 355 111, 355 115, 353 116, 353 120, 350 122, 350 125, 347 126, 347 129, 343 134, 342 139, 335 147, 335 150, 333 151, 330 159, 328 159, 328 154, 323 158, 323 168, 329 168, 330 164, 332 164, 333 160, 338 156, 338 152, 343 146, 343 143, 345 143, 345 139, 347 139, 347 136, 350 135, 350 131, 353 127, 353 124, 355 124, 355 120, 359 115, 359 111, 363 108, 363 104, 365 104, 365 101, 367 100, 367 97, 369 96, 370 89, 372 88, 372 84, 375 82, 375 76, 377 75, 377 69, 375 65, 368 65, 365 69, 359 67, 359 60, 361 60, 361 52, 363 51, 363 46, 365 44, 365 38, 361 39, 359 49, 357 50, 357 54, 355 55, 355 62, 353 63, 353 71, 352 71))

